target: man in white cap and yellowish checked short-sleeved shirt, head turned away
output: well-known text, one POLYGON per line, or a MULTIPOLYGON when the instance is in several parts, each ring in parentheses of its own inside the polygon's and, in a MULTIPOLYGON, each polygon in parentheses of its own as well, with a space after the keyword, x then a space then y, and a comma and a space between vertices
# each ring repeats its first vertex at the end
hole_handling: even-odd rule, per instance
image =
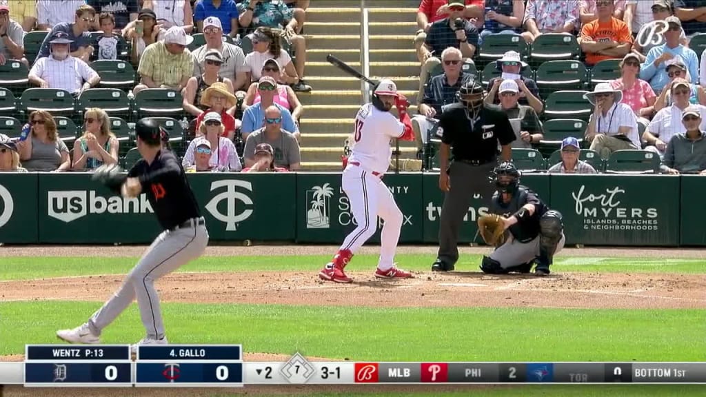
POLYGON ((186 46, 193 42, 181 26, 172 26, 164 40, 145 48, 137 72, 140 83, 133 89, 137 94, 145 88, 169 88, 181 91, 193 76, 193 58, 186 46))

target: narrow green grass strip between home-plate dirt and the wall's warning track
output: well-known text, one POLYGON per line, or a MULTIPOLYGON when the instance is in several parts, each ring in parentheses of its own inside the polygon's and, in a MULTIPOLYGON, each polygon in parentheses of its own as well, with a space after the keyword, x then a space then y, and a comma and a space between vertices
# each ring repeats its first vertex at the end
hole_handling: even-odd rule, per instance
MULTIPOLYGON (((203 256, 179 271, 318 271, 330 256, 203 256)), ((412 271, 429 271, 431 255, 398 255, 400 267, 412 271)), ((96 257, 6 257, 0 264, 0 280, 28 280, 76 275, 125 274, 138 258, 96 257)), ((378 256, 359 255, 352 261, 352 270, 372 269, 378 256)), ((477 271, 480 255, 463 256, 457 270, 477 271)), ((627 272, 627 273, 706 273, 706 261, 699 259, 630 259, 581 258, 556 259, 555 272, 627 272)))

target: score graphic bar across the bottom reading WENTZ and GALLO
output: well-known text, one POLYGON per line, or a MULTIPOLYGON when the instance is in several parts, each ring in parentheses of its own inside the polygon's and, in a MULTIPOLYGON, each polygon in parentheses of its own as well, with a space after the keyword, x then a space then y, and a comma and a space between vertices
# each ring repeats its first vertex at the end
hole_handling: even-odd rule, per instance
POLYGON ((262 384, 706 384, 706 362, 243 362, 241 345, 28 345, 0 362, 27 387, 262 384))

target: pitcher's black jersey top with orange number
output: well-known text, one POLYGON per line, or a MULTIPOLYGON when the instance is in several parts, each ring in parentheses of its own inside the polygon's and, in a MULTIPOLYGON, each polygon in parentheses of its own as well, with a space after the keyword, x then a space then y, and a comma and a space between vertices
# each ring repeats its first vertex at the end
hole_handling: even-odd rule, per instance
POLYGON ((152 164, 141 159, 128 172, 128 177, 140 179, 142 191, 147 194, 157 220, 165 230, 201 216, 184 169, 174 153, 160 151, 152 164))

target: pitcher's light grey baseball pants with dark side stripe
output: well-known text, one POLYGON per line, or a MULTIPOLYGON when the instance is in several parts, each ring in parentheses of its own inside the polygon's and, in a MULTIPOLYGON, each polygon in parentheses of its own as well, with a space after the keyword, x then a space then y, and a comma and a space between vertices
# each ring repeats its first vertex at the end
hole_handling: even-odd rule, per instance
POLYGON ((164 230, 126 276, 115 295, 93 314, 88 321, 91 332, 100 336, 103 328, 112 323, 137 296, 140 317, 148 338, 163 338, 164 323, 155 280, 201 256, 207 245, 205 225, 164 230))

